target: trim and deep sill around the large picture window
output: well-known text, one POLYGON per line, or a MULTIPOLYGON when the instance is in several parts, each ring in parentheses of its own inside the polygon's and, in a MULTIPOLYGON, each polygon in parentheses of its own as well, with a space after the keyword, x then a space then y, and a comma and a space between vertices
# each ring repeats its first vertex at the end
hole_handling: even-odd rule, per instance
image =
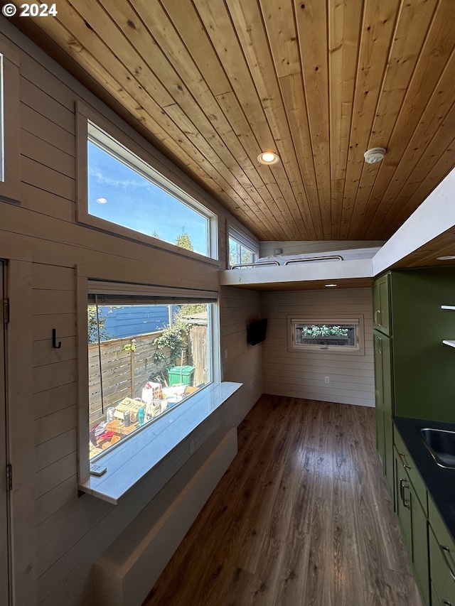
MULTIPOLYGON (((163 296, 164 293, 183 296, 183 290, 166 287, 146 286, 134 283, 113 283, 90 279, 82 275, 83 269, 77 268, 77 440, 78 440, 78 486, 82 492, 88 492, 96 497, 110 503, 117 503, 118 499, 129 491, 144 475, 153 467, 158 465, 166 455, 181 448, 181 444, 188 440, 188 436, 196 431, 205 419, 218 410, 241 384, 221 382, 221 359, 220 359, 220 315, 219 306, 216 305, 212 314, 210 332, 213 347, 210 348, 212 356, 212 382, 203 389, 196 391, 186 398, 186 406, 176 406, 163 416, 165 421, 157 419, 154 423, 142 428, 133 438, 124 440, 123 443, 109 448, 105 454, 98 455, 96 464, 108 467, 107 473, 101 478, 90 476, 89 456, 89 414, 88 414, 88 365, 87 365, 87 296, 90 291, 107 293, 150 294, 163 296), (175 291, 175 292, 174 292, 175 291), (169 421, 173 423, 169 423, 169 421), (163 448, 162 441, 158 438, 156 448, 153 441, 157 435, 162 437, 166 433, 166 427, 171 427, 168 432, 169 447, 163 448), (137 456, 141 453, 141 460, 145 464, 137 465, 137 456), (144 456, 147 453, 147 456, 144 456), (153 456, 152 456, 153 454, 153 456)), ((199 296, 213 296, 213 292, 194 291, 199 296)), ((188 290, 186 291, 188 294, 188 290)), ((208 435, 207 435, 208 437, 208 435)), ((167 439, 167 438, 166 438, 167 439)), ((202 442, 201 442, 202 443, 202 442)), ((180 460, 180 459, 179 459, 180 460)), ((181 460, 183 465, 183 459, 181 460)))

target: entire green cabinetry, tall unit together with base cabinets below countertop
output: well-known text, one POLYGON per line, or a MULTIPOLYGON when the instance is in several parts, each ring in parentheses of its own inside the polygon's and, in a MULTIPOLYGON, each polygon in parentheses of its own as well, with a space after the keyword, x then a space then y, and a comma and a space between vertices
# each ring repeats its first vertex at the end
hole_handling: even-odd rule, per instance
MULTIPOLYGON (((378 456, 424 606, 455 606, 455 543, 392 417, 454 421, 455 266, 390 271, 373 284, 378 456)), ((422 445, 422 448, 424 446, 422 445)))

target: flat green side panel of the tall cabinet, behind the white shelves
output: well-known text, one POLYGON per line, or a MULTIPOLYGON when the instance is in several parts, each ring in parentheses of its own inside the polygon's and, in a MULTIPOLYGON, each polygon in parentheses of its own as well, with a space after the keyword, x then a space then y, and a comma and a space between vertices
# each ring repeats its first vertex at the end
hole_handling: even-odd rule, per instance
POLYGON ((455 266, 392 271, 392 359, 397 416, 455 422, 455 266))

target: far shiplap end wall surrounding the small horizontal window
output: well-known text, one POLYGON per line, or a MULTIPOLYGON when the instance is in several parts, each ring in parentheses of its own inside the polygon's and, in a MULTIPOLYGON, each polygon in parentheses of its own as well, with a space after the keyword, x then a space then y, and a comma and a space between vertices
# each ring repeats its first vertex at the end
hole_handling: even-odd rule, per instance
POLYGON ((264 393, 374 406, 372 307, 370 288, 264 293, 262 315, 269 320, 262 352, 264 393), (331 318, 337 313, 364 315, 365 355, 288 351, 288 314, 331 318))

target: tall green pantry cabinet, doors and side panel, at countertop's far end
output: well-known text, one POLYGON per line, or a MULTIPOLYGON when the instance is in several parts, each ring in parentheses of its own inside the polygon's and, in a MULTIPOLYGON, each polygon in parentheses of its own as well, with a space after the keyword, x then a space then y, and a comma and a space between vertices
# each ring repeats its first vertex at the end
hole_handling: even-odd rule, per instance
POLYGON ((453 266, 390 271, 373 283, 376 439, 392 495, 392 416, 453 420, 454 352, 442 345, 453 316, 441 301, 454 291, 453 266))

